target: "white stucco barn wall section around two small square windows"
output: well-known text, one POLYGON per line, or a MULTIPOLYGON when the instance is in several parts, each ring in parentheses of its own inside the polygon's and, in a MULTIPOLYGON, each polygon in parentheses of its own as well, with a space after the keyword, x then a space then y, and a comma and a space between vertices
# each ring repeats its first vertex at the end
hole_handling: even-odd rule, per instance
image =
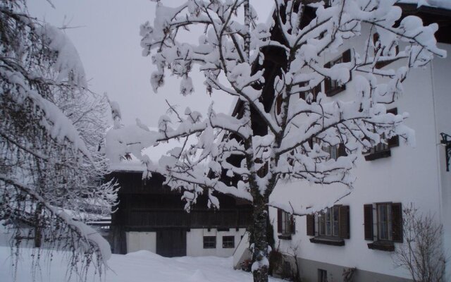
POLYGON ((245 228, 240 228, 238 231, 235 228, 230 228, 229 231, 217 231, 216 228, 208 229, 191 229, 186 233, 187 250, 186 254, 189 257, 230 257, 233 255, 235 248, 240 243, 241 236, 246 232, 245 228), (216 236, 216 248, 204 249, 204 236, 216 236), (223 248, 223 236, 235 236, 235 247, 223 248))

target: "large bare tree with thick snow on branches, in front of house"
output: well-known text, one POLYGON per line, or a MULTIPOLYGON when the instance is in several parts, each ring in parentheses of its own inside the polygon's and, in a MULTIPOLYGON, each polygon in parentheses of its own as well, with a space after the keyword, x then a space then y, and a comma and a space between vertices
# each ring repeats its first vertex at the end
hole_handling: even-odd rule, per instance
MULTIPOLYGON (((206 116, 175 111, 160 118, 158 132, 123 128, 111 145, 118 155, 139 157, 147 166, 144 177, 166 176, 167 185, 183 191, 187 209, 200 193, 216 208, 215 192, 252 201, 252 272, 254 281, 267 281, 267 206, 278 180, 342 183, 351 190, 352 167, 362 151, 395 135, 414 142, 403 123, 407 114, 387 113, 385 104, 400 97, 411 68, 445 56, 433 37, 438 25, 423 26, 414 16, 401 19, 395 0, 275 0, 273 17, 260 23, 249 0, 188 0, 176 8, 156 2, 154 23, 141 26, 143 55, 152 56, 157 68, 154 90, 171 73, 181 80, 181 94, 193 93, 190 74, 197 65, 206 90, 237 97, 238 111, 218 114, 213 105, 206 116), (196 26, 204 34, 197 43, 186 41, 196 26), (364 28, 370 32, 360 39, 362 49, 351 46, 349 61, 324 65, 325 56, 338 56, 349 40, 363 37, 364 28), (385 61, 398 61, 397 69, 376 67, 385 61), (321 83, 342 85, 351 76, 352 101, 316 91, 321 83), (173 138, 185 145, 159 164, 141 154, 173 138), (337 146, 346 156, 335 159, 325 150, 337 146)), ((275 205, 292 214, 315 212, 275 205)))

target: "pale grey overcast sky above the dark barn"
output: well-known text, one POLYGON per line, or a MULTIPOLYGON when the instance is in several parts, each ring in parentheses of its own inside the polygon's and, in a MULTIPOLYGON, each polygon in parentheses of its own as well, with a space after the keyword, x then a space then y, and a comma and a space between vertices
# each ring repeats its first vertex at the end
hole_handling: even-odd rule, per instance
MULTIPOLYGON (((166 0, 163 4, 177 6, 182 0, 166 0)), ((266 22, 272 0, 251 0, 266 22)), ((77 47, 88 78, 89 87, 97 93, 107 92, 111 100, 121 106, 123 123, 142 123, 156 126, 167 105, 186 106, 205 113, 211 100, 217 112, 228 112, 233 99, 223 94, 209 97, 202 85, 202 75, 193 75, 195 93, 189 97, 179 94, 176 78, 167 78, 166 85, 154 93, 150 75, 154 69, 150 57, 143 57, 140 47, 140 25, 153 23, 156 4, 150 0, 45 0, 28 1, 32 16, 52 25, 66 25, 66 34, 77 47)), ((197 37, 194 36, 194 38, 197 37)), ((197 69, 197 67, 196 67, 197 69)))

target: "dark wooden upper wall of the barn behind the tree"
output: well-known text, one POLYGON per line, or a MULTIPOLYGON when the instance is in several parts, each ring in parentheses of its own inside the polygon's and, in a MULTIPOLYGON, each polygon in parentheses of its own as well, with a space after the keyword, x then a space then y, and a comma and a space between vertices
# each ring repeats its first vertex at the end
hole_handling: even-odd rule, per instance
POLYGON ((115 172, 121 185, 117 211, 111 216, 113 252, 125 253, 125 232, 190 228, 246 228, 252 222, 252 205, 218 194, 220 209, 208 209, 207 198, 199 197, 190 213, 185 212, 181 194, 163 187, 163 176, 145 183, 139 172, 115 172))

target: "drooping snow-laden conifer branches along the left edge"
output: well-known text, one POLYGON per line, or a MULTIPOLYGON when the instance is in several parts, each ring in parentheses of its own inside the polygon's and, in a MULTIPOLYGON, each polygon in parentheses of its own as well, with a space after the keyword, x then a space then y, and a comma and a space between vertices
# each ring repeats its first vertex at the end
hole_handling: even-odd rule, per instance
POLYGON ((39 247, 67 250, 71 270, 101 270, 109 244, 82 220, 116 203, 98 152, 106 98, 87 90, 68 37, 29 16, 25 0, 0 1, 0 38, 0 222, 16 262, 32 243, 37 257, 39 247))

